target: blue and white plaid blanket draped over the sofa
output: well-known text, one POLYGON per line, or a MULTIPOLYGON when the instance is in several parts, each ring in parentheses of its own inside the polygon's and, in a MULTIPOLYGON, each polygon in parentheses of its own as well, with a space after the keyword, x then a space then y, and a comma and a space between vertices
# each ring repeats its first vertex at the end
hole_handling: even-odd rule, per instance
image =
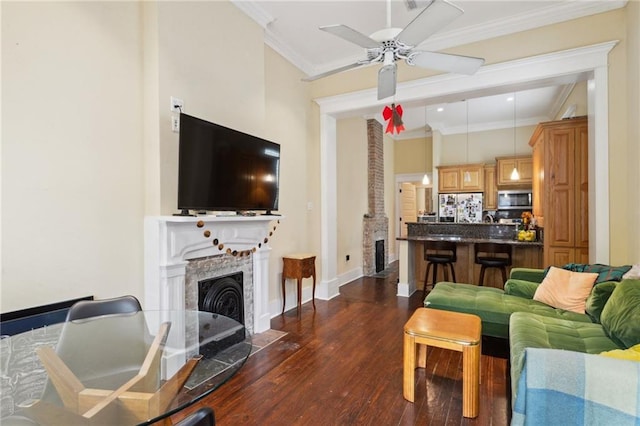
POLYGON ((640 362, 527 348, 511 425, 640 425, 640 362))

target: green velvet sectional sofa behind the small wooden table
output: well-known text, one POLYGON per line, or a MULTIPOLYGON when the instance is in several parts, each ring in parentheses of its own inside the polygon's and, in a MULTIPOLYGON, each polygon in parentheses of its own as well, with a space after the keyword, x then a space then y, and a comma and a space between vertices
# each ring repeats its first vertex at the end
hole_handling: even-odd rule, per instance
POLYGON ((440 282, 425 298, 424 306, 478 315, 483 335, 509 339, 515 401, 525 348, 599 354, 640 343, 640 280, 615 281, 624 270, 619 269, 612 281, 607 281, 611 274, 606 271, 599 276, 584 314, 533 300, 546 271, 526 268, 512 269, 504 291, 440 282))

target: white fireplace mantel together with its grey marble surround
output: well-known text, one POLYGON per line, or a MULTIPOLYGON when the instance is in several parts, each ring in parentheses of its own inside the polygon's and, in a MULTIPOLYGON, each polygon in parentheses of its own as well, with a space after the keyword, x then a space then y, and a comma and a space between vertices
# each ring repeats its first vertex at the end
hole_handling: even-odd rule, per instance
POLYGON ((279 217, 145 218, 145 309, 197 309, 197 282, 243 271, 245 327, 270 328, 268 239, 279 217))

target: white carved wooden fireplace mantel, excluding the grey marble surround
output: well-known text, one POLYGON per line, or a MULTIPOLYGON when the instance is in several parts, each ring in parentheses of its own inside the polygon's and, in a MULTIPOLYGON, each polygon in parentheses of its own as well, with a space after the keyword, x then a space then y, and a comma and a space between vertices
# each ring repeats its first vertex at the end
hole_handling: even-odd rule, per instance
POLYGON ((150 216, 144 223, 145 309, 184 309, 189 260, 251 256, 254 333, 270 328, 269 253, 278 216, 150 216))

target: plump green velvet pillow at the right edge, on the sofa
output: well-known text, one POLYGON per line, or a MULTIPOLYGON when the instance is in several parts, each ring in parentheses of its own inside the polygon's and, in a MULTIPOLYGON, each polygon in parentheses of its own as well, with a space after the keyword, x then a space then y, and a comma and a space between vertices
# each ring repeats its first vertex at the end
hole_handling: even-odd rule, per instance
POLYGON ((622 347, 640 343, 640 280, 623 280, 616 285, 600 322, 611 340, 622 347))

